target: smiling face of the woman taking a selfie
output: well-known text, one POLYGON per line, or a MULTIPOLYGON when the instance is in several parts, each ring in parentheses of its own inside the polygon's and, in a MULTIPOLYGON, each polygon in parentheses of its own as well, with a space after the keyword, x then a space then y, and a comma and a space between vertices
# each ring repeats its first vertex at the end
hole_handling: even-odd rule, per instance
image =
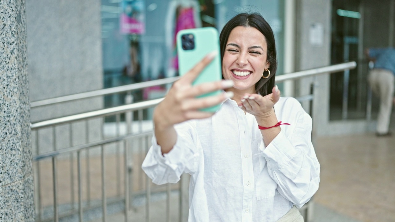
MULTIPOLYGON (((256 28, 237 26, 230 32, 222 59, 222 75, 244 93, 255 93, 267 62, 266 38, 256 28)), ((266 74, 267 75, 267 74, 266 74)))

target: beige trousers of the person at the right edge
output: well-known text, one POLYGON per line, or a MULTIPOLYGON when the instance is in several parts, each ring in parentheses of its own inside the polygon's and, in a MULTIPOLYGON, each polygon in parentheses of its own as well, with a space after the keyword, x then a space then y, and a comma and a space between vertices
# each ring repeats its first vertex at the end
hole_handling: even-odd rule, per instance
POLYGON ((369 73, 368 81, 373 93, 380 97, 376 132, 386 134, 391 118, 395 76, 389 70, 373 69, 369 73))

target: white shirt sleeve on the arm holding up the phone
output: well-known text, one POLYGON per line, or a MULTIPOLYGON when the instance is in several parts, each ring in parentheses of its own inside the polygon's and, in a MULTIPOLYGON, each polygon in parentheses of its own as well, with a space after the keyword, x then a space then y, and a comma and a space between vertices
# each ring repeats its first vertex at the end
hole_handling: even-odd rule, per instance
POLYGON ((175 126, 177 141, 167 154, 162 155, 161 147, 152 137, 152 146, 141 166, 155 184, 176 183, 182 173, 193 174, 198 169, 199 143, 193 122, 175 126))

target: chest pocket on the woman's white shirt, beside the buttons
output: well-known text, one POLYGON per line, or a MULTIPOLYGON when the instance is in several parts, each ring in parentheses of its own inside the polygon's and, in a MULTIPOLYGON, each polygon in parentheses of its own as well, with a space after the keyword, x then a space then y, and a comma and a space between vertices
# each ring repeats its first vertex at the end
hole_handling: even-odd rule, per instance
POLYGON ((270 177, 267 171, 266 159, 262 154, 258 154, 260 172, 256 180, 256 199, 261 200, 264 198, 274 198, 276 194, 277 184, 270 177))

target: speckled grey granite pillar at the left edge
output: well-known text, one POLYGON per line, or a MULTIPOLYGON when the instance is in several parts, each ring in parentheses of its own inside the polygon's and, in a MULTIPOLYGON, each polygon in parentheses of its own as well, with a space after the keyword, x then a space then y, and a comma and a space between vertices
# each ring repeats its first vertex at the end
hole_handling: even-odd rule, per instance
POLYGON ((0 221, 34 221, 25 0, 0 1, 0 221))

